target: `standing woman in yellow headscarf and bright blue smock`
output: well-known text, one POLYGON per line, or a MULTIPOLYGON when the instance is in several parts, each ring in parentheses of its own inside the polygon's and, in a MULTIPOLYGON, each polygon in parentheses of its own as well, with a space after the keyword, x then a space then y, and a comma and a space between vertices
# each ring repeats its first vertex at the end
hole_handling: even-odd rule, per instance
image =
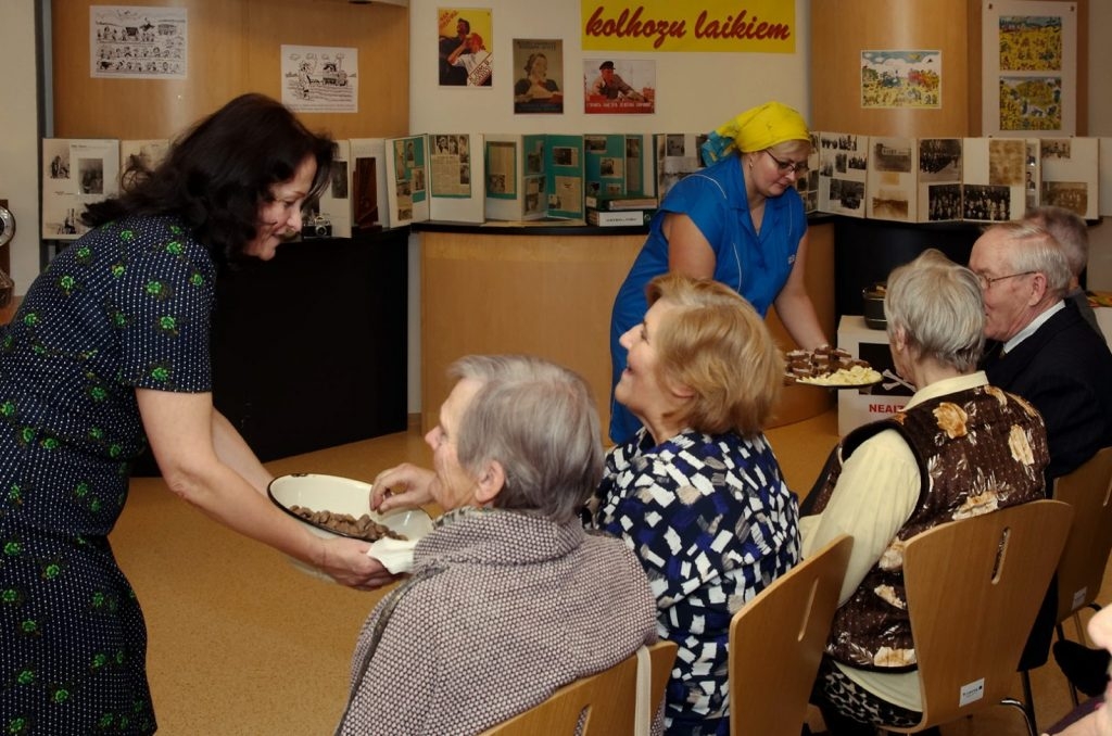
MULTIPOLYGON (((614 301, 612 387, 626 370, 619 338, 645 317, 645 286, 667 271, 721 281, 762 317, 775 305, 802 348, 827 342, 803 282, 807 218, 795 183, 810 152, 806 122, 780 102, 746 110, 708 136, 707 167, 668 190, 614 301)), ((639 441, 639 427, 612 390, 610 439, 639 441)))

